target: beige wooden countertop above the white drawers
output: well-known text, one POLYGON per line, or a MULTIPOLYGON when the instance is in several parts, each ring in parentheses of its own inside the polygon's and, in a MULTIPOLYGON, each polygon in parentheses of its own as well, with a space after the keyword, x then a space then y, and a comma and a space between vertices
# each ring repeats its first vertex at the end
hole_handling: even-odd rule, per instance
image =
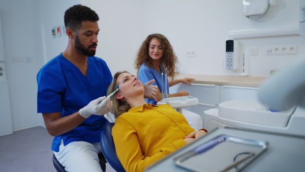
POLYGON ((231 85, 239 87, 259 87, 268 77, 261 76, 230 76, 230 75, 200 75, 200 74, 179 74, 177 79, 191 77, 191 83, 231 85))

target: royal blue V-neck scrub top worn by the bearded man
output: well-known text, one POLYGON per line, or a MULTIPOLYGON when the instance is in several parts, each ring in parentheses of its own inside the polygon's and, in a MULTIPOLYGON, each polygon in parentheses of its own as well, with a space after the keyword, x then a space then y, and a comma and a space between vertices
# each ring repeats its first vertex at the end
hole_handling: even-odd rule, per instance
MULTIPOLYGON (((90 101, 106 96, 112 81, 111 72, 106 64, 96 56, 87 57, 87 75, 62 54, 43 66, 37 75, 38 95, 37 112, 62 112, 62 117, 73 114, 90 101)), ((100 128, 108 123, 104 116, 92 115, 73 130, 55 136, 52 150, 59 151, 60 140, 64 145, 73 141, 100 142, 100 128)))

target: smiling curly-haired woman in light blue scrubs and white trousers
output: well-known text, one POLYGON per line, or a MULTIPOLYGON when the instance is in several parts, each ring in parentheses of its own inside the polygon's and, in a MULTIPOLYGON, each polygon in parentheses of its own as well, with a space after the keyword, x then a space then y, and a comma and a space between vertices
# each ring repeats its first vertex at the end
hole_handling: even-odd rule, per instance
MULTIPOLYGON (((168 97, 189 95, 189 93, 186 91, 180 91, 173 94, 169 93, 169 87, 177 83, 191 84, 189 80, 194 80, 194 78, 182 78, 174 80, 177 63, 177 57, 171 44, 165 36, 161 34, 151 34, 143 41, 135 61, 135 68, 138 69, 138 79, 144 83, 148 80, 155 79, 156 81, 153 84, 158 85, 157 95, 154 98, 145 99, 147 103, 156 105, 157 102, 161 101, 162 90, 160 89, 162 89, 162 87, 163 91, 167 91, 168 97), (170 81, 168 81, 165 74, 167 74, 170 81)), ((201 117, 199 114, 185 109, 183 109, 183 111, 184 112, 182 113, 188 120, 191 127, 193 127, 195 130, 202 128, 201 117)))

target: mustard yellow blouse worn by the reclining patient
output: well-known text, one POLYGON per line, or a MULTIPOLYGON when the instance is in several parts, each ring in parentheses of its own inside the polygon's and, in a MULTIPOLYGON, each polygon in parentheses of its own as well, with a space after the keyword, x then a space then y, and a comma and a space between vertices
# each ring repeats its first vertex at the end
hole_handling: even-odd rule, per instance
POLYGON ((115 120, 112 136, 116 154, 126 171, 143 171, 187 143, 195 131, 186 118, 168 104, 144 104, 115 120))

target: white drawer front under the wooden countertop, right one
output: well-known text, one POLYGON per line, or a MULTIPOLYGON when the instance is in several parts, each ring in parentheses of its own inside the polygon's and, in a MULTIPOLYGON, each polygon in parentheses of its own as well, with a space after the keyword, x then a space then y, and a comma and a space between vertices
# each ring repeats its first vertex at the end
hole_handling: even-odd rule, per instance
POLYGON ((231 100, 259 102, 257 95, 258 90, 259 88, 255 87, 237 87, 221 85, 220 102, 222 103, 231 100))

